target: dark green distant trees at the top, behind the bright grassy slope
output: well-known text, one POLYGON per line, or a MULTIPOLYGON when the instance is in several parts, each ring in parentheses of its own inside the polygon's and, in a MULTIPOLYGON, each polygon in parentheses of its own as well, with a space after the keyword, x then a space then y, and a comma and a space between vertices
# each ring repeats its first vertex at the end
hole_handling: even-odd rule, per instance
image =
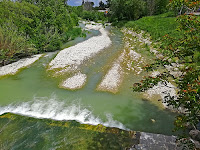
POLYGON ((169 0, 108 0, 113 20, 136 20, 165 12, 169 0))

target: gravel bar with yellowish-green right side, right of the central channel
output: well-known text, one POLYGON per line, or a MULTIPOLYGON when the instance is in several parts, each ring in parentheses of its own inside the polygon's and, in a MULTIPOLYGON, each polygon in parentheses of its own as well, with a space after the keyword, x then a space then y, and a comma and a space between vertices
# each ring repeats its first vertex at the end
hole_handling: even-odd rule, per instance
MULTIPOLYGON (((124 79, 131 74, 138 76, 142 73, 146 58, 140 54, 143 48, 136 52, 130 41, 134 41, 133 37, 126 35, 125 30, 121 31, 124 34, 123 48, 121 53, 111 63, 110 69, 104 75, 103 79, 97 86, 97 91, 111 92, 116 94, 120 92, 120 88, 124 79)), ((139 49, 139 48, 138 48, 139 49)))

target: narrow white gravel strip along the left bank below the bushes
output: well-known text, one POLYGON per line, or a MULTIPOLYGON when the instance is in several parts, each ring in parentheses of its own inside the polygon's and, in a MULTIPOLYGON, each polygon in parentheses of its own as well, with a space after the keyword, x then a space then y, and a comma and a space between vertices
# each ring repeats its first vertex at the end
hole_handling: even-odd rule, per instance
POLYGON ((42 56, 42 54, 34 55, 31 58, 21 59, 21 60, 14 62, 12 64, 0 67, 0 76, 4 76, 4 75, 7 75, 7 74, 14 75, 19 71, 19 69, 31 65, 32 63, 37 61, 41 56, 42 56))

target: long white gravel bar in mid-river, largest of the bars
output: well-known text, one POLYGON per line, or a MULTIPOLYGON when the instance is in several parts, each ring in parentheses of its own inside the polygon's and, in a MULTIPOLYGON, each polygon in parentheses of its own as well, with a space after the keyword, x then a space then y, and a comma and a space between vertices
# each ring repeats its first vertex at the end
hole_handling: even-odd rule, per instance
POLYGON ((99 30, 101 35, 92 37, 82 43, 60 51, 50 62, 50 70, 56 68, 69 68, 69 70, 72 71, 76 70, 85 60, 88 60, 111 44, 108 32, 102 25, 90 24, 86 25, 86 28, 99 30))

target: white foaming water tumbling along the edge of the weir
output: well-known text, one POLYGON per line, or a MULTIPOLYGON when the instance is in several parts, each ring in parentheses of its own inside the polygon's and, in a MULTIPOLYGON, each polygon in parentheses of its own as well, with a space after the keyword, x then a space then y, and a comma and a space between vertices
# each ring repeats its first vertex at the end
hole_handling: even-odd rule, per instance
POLYGON ((76 120, 83 124, 103 124, 107 127, 126 129, 122 123, 113 120, 110 114, 106 114, 107 121, 103 122, 99 117, 95 117, 88 108, 77 103, 70 104, 66 101, 56 100, 56 97, 34 98, 33 101, 0 107, 0 115, 7 112, 35 118, 76 120))

